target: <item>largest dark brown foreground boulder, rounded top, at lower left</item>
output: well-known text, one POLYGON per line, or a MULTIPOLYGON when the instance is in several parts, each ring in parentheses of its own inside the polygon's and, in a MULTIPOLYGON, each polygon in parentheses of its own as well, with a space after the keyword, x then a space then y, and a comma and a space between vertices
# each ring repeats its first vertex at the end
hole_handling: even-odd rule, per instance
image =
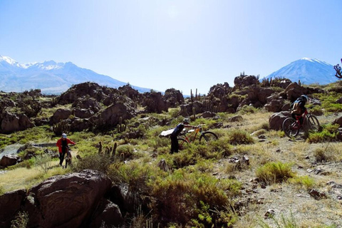
POLYGON ((86 227, 110 187, 110 179, 95 170, 51 177, 28 191, 28 227, 86 227))

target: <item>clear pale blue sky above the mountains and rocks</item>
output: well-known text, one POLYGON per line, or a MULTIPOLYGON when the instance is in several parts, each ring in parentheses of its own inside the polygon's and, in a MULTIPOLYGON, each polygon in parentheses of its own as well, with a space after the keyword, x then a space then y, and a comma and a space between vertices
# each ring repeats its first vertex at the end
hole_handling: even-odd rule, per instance
POLYGON ((243 72, 342 58, 340 0, 0 0, 0 55, 207 93, 243 72))

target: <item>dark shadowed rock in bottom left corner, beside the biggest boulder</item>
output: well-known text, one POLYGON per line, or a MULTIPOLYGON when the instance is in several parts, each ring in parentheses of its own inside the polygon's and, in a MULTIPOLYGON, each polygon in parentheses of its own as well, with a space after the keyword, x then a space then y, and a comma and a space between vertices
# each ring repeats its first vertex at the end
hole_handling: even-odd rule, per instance
POLYGON ((15 190, 0 195, 0 227, 11 227, 11 220, 21 208, 26 197, 26 190, 15 190))

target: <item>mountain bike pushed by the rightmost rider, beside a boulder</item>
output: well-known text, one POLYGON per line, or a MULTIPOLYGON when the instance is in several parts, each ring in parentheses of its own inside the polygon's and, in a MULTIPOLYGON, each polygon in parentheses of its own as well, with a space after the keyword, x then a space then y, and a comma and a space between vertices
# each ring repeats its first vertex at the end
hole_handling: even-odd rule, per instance
POLYGON ((296 137, 299 134, 299 130, 309 130, 311 132, 318 132, 320 125, 318 119, 315 115, 309 113, 308 109, 302 115, 296 115, 296 120, 294 118, 286 118, 283 122, 283 130, 285 135, 289 138, 296 137), (303 117, 303 124, 299 119, 303 117), (305 128, 306 127, 306 128, 305 128))

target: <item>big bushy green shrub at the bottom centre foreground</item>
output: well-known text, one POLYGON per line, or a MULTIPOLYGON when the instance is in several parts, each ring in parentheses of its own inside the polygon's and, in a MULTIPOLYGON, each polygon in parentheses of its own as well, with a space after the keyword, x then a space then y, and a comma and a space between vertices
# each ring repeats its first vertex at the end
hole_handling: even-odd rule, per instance
MULTIPOLYGON (((241 183, 237 180, 218 180, 206 172, 175 170, 167 177, 150 182, 152 196, 157 200, 158 217, 185 227, 225 227, 232 222, 226 206, 229 199, 240 194, 241 183), (172 203, 170 203, 172 199, 172 203)), ((235 217, 234 217, 235 218, 235 217)))

